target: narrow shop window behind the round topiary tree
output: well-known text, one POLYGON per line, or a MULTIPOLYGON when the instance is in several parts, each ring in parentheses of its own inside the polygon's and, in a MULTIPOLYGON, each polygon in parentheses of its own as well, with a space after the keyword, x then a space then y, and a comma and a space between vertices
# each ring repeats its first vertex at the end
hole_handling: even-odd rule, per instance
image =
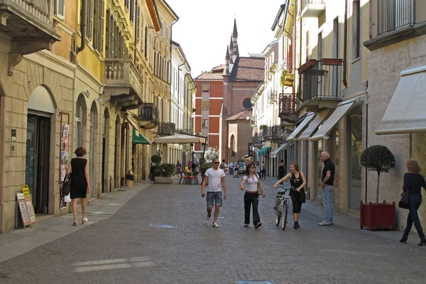
POLYGON ((362 116, 357 114, 349 117, 351 141, 349 146, 349 210, 359 211, 361 193, 361 163, 362 153, 362 116))

